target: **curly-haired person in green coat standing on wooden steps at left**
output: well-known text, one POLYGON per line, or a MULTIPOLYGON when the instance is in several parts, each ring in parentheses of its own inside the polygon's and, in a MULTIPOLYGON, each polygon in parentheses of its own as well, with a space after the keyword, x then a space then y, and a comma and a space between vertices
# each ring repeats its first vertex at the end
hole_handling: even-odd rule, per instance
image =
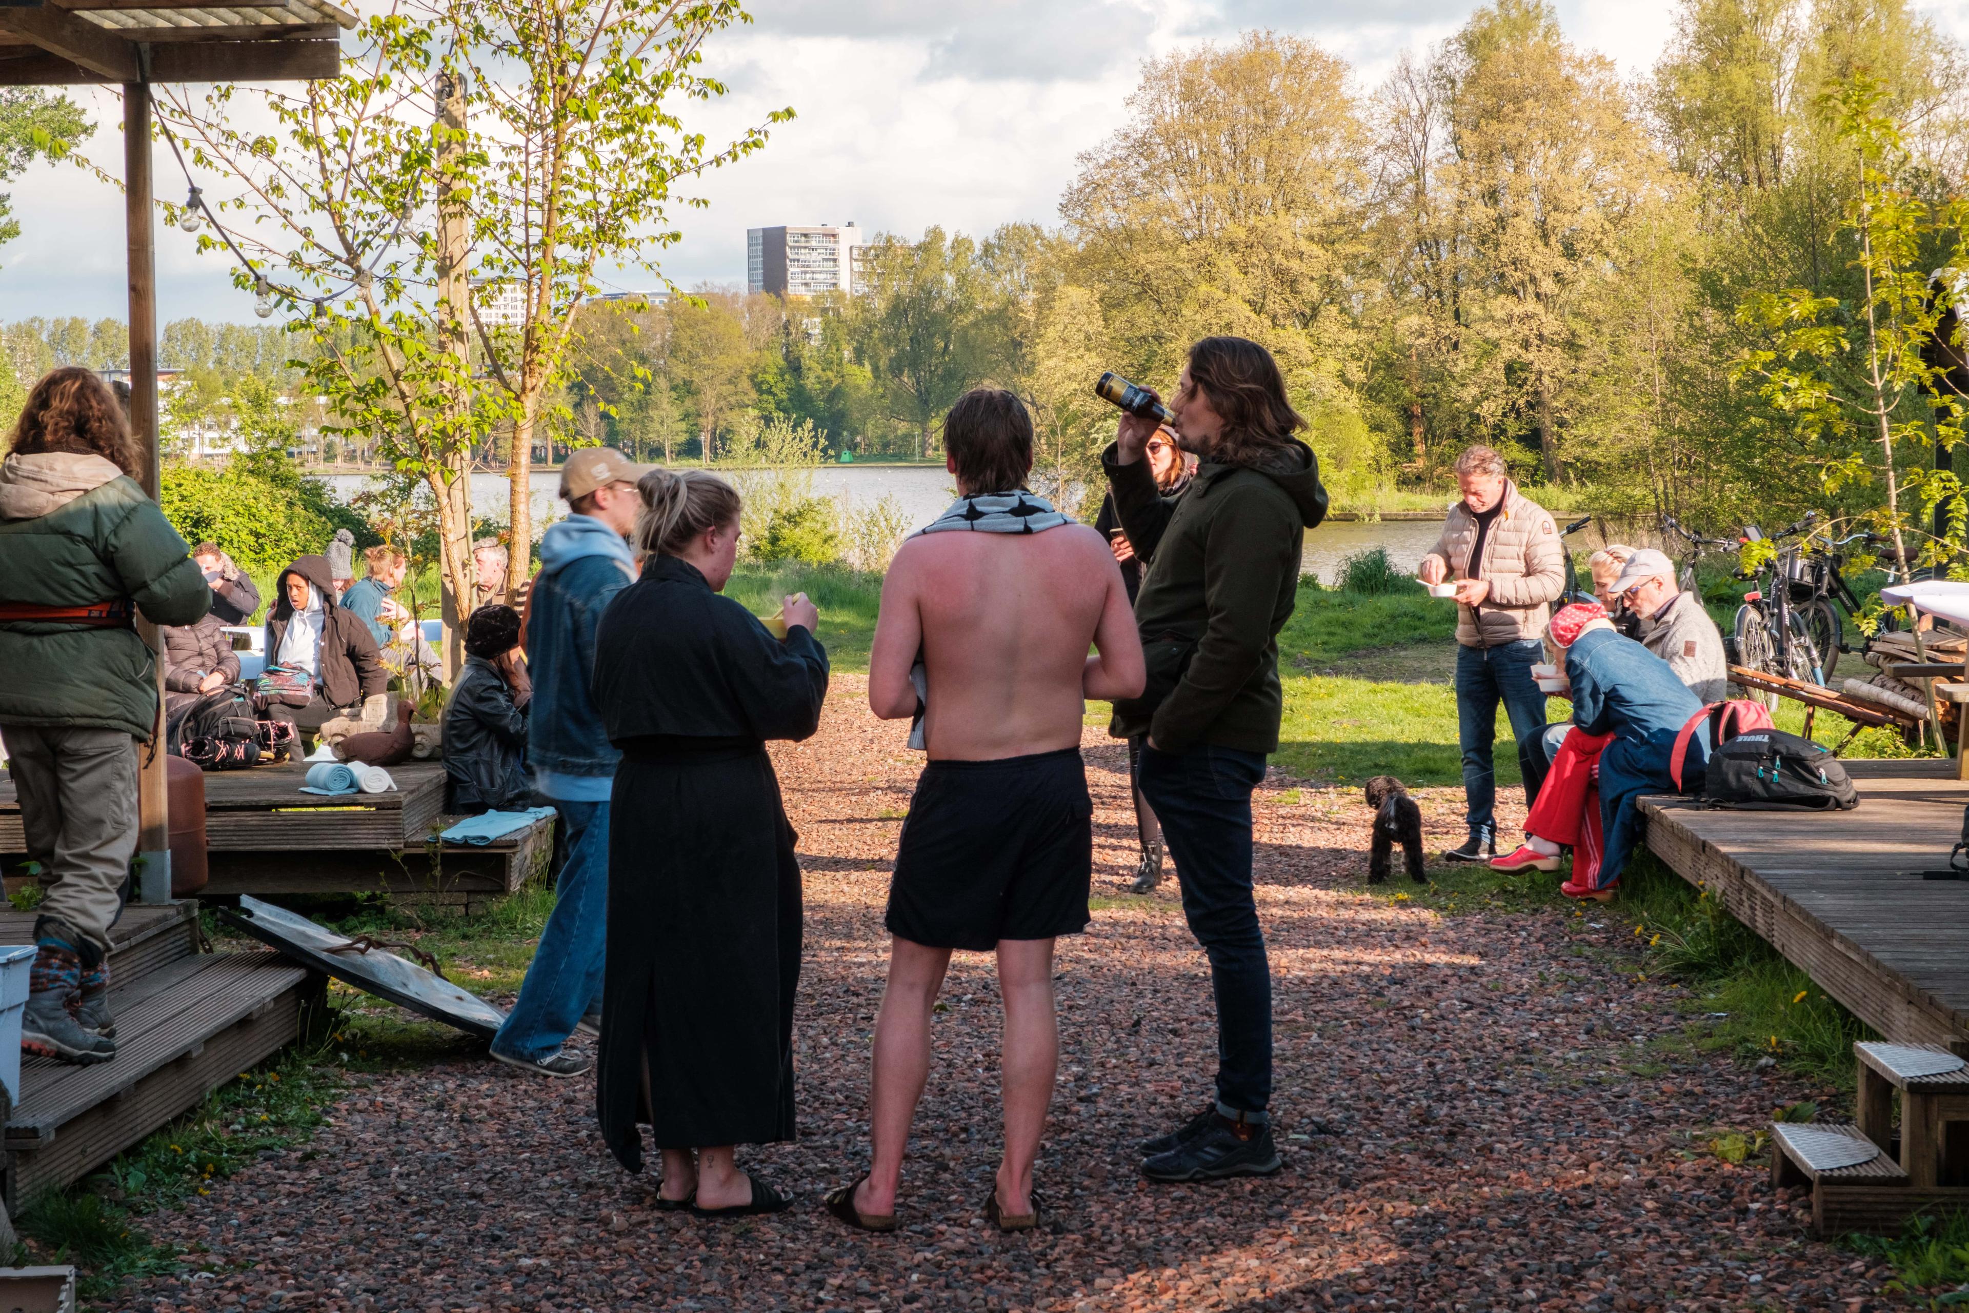
POLYGON ((53 878, 22 1049, 71 1063, 116 1055, 104 957, 136 852, 136 744, 158 726, 134 616, 195 624, 213 606, 140 461, 108 386, 71 366, 28 394, 0 463, 0 738, 28 856, 53 878))

